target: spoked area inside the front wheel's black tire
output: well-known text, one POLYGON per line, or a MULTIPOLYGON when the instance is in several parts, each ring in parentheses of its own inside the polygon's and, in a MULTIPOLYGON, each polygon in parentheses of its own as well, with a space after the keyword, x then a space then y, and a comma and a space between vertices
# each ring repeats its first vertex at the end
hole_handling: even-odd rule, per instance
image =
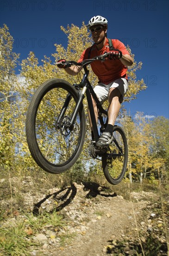
POLYGON ((53 88, 44 95, 37 110, 36 137, 38 147, 44 157, 53 164, 62 164, 67 161, 74 154, 79 141, 79 115, 73 131, 69 131, 69 128, 66 127, 75 108, 73 97, 66 108, 64 119, 60 121, 60 127, 56 127, 56 120, 61 113, 67 94, 68 92, 62 88, 53 88))

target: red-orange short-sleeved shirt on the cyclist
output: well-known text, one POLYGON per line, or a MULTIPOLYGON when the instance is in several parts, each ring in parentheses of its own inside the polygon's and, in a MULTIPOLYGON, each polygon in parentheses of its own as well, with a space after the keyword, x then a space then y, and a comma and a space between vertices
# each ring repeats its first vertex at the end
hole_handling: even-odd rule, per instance
MULTIPOLYGON (((125 45, 119 40, 112 39, 112 43, 114 49, 119 49, 122 54, 129 54, 129 52, 125 48, 125 45)), ((83 51, 78 62, 88 59, 88 52, 90 48, 91 47, 83 51)), ((92 46, 90 52, 90 59, 107 52, 109 52, 109 44, 108 39, 106 38, 106 43, 101 50, 97 50, 95 44, 92 46)), ((97 77, 99 78, 99 82, 101 83, 109 84, 110 82, 120 77, 127 78, 127 67, 123 65, 120 60, 93 61, 90 65, 94 74, 97 75, 97 77)))

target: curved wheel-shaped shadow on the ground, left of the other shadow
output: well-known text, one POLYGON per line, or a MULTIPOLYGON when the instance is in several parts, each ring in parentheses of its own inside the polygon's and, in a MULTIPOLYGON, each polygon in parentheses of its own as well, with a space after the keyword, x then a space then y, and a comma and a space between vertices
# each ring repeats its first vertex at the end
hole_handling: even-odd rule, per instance
POLYGON ((67 206, 70 202, 72 202, 72 200, 74 199, 74 197, 76 195, 76 192, 77 192, 77 189, 76 189, 75 185, 72 184, 70 187, 60 189, 59 191, 57 191, 55 193, 45 196, 41 201, 39 201, 38 203, 36 203, 34 205, 33 210, 32 210, 33 215, 34 216, 39 215, 39 208, 41 207, 42 203, 44 203, 50 197, 53 197, 54 200, 56 200, 56 198, 57 198, 57 201, 60 201, 60 202, 62 202, 66 199, 66 201, 64 201, 63 203, 58 205, 55 209, 50 210, 50 213, 52 213, 54 211, 56 211, 56 212, 61 211, 65 206, 67 206), (64 195, 62 195, 64 191, 66 191, 66 192, 64 195), (59 194, 61 194, 61 195, 59 196, 59 194))

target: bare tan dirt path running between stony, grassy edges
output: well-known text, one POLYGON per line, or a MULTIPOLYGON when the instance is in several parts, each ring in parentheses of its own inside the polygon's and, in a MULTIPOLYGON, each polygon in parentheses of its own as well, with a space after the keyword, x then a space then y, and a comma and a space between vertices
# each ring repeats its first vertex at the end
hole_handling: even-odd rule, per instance
MULTIPOLYGON (((74 202, 66 206, 61 213, 68 214, 70 218, 75 216, 75 230, 78 235, 73 243, 58 251, 60 256, 103 256, 107 255, 108 241, 120 240, 127 235, 136 233, 136 225, 133 216, 133 206, 136 217, 141 214, 141 209, 146 202, 132 204, 123 199, 122 196, 83 191, 83 185, 76 185, 77 193, 74 202), (91 196, 88 199, 88 196, 91 196)), ((101 189, 101 188, 100 188, 101 189)), ((99 190, 98 190, 99 191, 99 190)), ((68 221, 69 221, 69 217, 68 221)), ((52 248, 51 254, 55 252, 52 248)), ((49 254, 48 254, 49 255, 49 254)))

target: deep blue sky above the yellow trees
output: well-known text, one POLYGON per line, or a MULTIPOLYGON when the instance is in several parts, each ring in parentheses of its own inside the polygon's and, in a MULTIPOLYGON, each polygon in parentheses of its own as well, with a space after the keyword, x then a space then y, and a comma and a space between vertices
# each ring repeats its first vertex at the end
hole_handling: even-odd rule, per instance
MULTIPOLYGON (((19 61, 33 51, 39 59, 55 53, 55 43, 67 45, 60 26, 81 26, 91 17, 108 20, 108 37, 129 45, 137 72, 147 89, 136 100, 125 103, 132 116, 169 118, 169 1, 168 0, 1 0, 0 27, 5 23, 13 36, 13 51, 19 61)), ((81 43, 81 42, 79 42, 81 43)), ((19 67, 16 69, 19 74, 19 67)))

